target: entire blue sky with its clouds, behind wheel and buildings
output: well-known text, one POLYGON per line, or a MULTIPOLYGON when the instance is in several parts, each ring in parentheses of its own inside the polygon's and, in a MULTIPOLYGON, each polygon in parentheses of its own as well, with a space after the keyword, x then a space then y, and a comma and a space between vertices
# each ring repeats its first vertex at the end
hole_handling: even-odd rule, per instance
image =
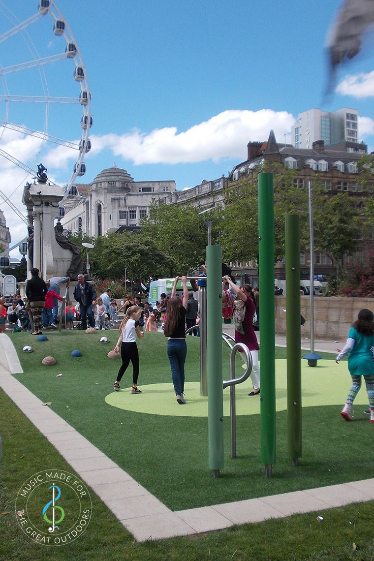
MULTIPOLYGON (((79 182, 92 181, 116 162, 137 181, 175 180, 179 190, 192 187, 227 174, 246 159, 247 142, 266 140, 271 128, 278 141, 289 142, 294 119, 312 107, 358 109, 366 117, 360 122, 361 140, 374 150, 372 49, 341 68, 340 90, 324 96, 325 38, 340 3, 58 0, 92 94, 93 148, 79 182), (344 81, 347 74, 359 73, 364 73, 359 82, 352 77, 348 85, 344 81)), ((36 0, 0 1, 0 33, 11 26, 7 7, 23 21, 35 6, 36 0)), ((52 25, 46 15, 27 27, 40 56, 61 52, 64 46, 52 25)), ((17 35, 0 43, 0 64, 25 62, 29 51, 30 44, 17 35)), ((79 94, 73 61, 44 68, 50 95, 79 94)), ((16 72, 7 83, 12 94, 43 95, 37 68, 16 72)), ((8 116, 0 118, 43 131, 44 115, 36 105, 11 103, 8 116)), ((4 115, 4 102, 1 109, 4 115)), ((78 141, 81 113, 80 105, 54 104, 49 134, 78 141)), ((71 149, 48 144, 40 149, 35 139, 8 130, 0 148, 13 151, 33 169, 42 161, 60 185, 68 181, 76 158, 71 149)), ((24 212, 20 200, 27 174, 0 159, 0 178, 0 189, 24 212)), ((0 202, 0 208, 16 242, 25 226, 6 204, 0 202)))

